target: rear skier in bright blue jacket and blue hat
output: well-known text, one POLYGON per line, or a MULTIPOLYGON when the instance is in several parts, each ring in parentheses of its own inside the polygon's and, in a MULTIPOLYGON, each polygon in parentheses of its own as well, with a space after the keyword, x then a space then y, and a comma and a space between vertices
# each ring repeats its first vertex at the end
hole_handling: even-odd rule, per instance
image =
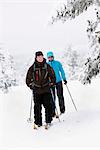
MULTIPOLYGON (((63 70, 62 64, 59 61, 54 60, 53 52, 47 53, 48 58, 48 64, 53 68, 55 75, 56 75, 56 90, 57 90, 57 96, 59 100, 59 107, 60 107, 60 113, 65 112, 65 102, 64 102, 64 96, 63 96, 63 85, 62 80, 64 81, 64 84, 67 84, 65 72, 63 70)), ((55 87, 52 87, 54 100, 56 98, 55 96, 55 87)))

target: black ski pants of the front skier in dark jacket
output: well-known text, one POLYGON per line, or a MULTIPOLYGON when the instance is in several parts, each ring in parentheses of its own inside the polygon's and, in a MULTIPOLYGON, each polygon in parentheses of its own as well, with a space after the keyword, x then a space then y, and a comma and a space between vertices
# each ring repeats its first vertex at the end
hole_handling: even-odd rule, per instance
POLYGON ((45 122, 51 123, 52 121, 52 102, 51 93, 33 93, 34 94, 34 123, 42 125, 42 105, 45 108, 45 122))

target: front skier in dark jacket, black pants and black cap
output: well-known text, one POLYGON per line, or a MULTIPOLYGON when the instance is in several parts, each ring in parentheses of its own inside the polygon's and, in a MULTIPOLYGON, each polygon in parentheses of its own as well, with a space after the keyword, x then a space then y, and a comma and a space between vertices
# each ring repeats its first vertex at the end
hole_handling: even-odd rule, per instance
POLYGON ((50 87, 55 85, 56 78, 53 69, 46 63, 41 51, 36 52, 35 61, 29 68, 26 84, 33 90, 34 124, 42 126, 42 104, 45 108, 46 124, 52 121, 52 95, 50 87))

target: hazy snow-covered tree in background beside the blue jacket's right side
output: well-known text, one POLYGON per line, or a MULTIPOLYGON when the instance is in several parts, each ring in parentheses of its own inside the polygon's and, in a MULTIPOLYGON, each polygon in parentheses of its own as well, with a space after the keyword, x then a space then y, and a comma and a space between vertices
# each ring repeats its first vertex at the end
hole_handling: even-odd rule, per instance
POLYGON ((62 60, 66 74, 68 74, 68 79, 78 79, 78 73, 80 72, 80 67, 82 64, 82 59, 78 52, 76 50, 73 50, 73 48, 69 46, 68 48, 66 48, 62 60))

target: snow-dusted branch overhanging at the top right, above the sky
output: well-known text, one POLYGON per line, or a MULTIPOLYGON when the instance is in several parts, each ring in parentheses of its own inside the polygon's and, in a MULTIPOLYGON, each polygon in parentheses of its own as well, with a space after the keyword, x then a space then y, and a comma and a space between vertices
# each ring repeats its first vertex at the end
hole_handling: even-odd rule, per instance
POLYGON ((81 13, 86 11, 91 5, 100 6, 100 0, 65 0, 60 4, 60 8, 56 10, 55 15, 52 16, 51 23, 61 20, 74 19, 81 13))

